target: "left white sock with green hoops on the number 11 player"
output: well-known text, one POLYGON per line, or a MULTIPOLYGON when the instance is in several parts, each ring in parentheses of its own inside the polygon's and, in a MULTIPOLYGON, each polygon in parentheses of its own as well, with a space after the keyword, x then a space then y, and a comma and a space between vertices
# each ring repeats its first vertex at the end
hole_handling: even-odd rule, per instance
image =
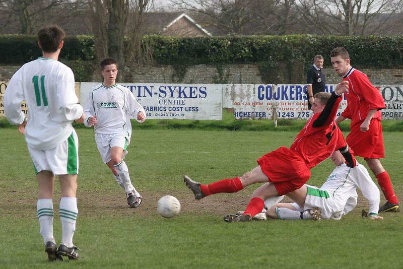
POLYGON ((36 216, 38 216, 40 231, 43 241, 54 241, 53 237, 53 201, 52 199, 38 199, 36 216))

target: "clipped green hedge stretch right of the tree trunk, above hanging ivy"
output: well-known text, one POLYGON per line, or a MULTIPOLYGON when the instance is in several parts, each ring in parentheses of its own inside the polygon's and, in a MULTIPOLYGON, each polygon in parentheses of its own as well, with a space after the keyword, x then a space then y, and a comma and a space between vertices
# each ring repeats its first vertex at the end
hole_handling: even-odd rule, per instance
POLYGON ((309 66, 315 54, 330 63, 330 51, 344 46, 355 65, 368 68, 403 66, 402 36, 146 36, 154 46, 158 63, 257 63, 299 59, 309 66))

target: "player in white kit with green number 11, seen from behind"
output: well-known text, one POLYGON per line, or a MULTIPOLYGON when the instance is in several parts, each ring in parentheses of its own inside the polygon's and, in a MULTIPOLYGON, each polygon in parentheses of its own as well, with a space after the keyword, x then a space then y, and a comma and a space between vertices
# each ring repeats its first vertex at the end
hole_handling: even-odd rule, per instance
POLYGON ((49 260, 79 259, 73 244, 76 230, 78 138, 73 120, 83 122, 85 114, 75 92, 73 71, 59 62, 64 31, 47 26, 37 33, 42 57, 24 64, 11 78, 4 94, 4 110, 11 124, 25 135, 39 183, 37 201, 40 234, 49 260), (20 102, 28 106, 28 118, 20 102), (61 188, 59 214, 62 237, 57 248, 53 237, 54 175, 61 188))

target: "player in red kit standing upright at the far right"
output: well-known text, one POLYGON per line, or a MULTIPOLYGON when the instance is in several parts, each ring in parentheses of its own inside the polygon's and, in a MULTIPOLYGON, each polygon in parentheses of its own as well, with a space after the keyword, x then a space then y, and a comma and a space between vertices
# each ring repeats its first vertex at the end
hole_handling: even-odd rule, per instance
POLYGON ((347 143, 355 155, 363 157, 367 162, 387 200, 383 206, 379 207, 379 212, 397 212, 399 202, 394 194, 390 177, 379 160, 379 158, 385 158, 382 114, 379 111, 386 107, 382 95, 372 86, 364 73, 351 67, 347 49, 334 48, 330 58, 334 70, 343 76, 343 81, 348 81, 350 84, 349 92, 345 94, 347 107, 335 122, 339 123, 346 118, 351 119, 351 132, 347 136, 347 143))

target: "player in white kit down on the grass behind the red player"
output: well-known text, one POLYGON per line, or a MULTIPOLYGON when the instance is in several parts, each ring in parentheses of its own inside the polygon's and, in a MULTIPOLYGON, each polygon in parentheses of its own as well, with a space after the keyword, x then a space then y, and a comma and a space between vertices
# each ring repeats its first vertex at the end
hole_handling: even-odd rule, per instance
POLYGON ((340 220, 356 207, 358 187, 368 200, 370 219, 383 219, 378 216, 379 189, 365 166, 348 167, 339 151, 333 152, 330 159, 337 167, 320 188, 305 184, 287 194, 296 203, 276 204, 266 215, 275 219, 312 219, 309 209, 317 207, 323 219, 340 220))

